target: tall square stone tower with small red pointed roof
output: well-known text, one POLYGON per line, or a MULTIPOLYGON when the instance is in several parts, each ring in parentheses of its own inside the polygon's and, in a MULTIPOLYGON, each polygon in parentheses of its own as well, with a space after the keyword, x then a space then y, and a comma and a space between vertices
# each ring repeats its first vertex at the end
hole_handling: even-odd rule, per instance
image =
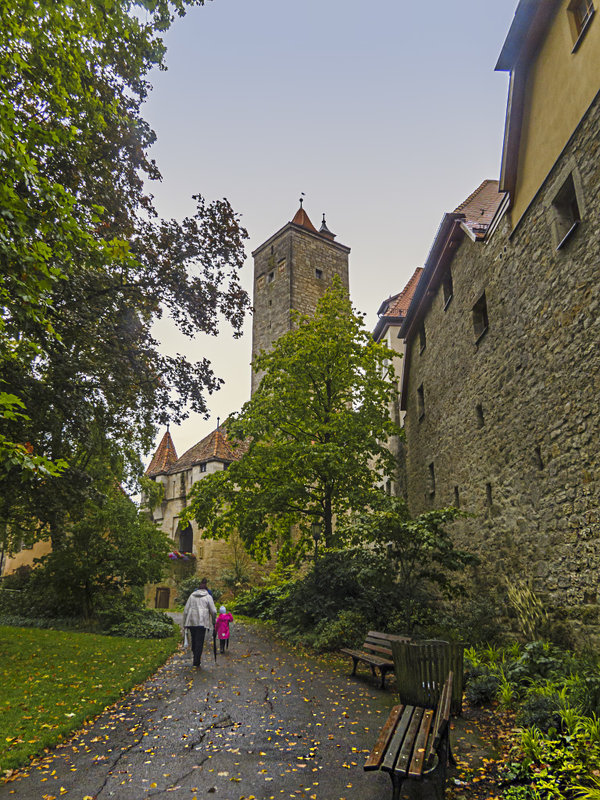
MULTIPOLYGON (((314 227, 302 200, 293 220, 256 248, 252 361, 291 329, 292 310, 314 314, 334 275, 348 289, 349 252, 349 247, 335 241, 325 215, 320 230, 314 227)), ((260 374, 252 373, 252 393, 260 379, 260 374)))

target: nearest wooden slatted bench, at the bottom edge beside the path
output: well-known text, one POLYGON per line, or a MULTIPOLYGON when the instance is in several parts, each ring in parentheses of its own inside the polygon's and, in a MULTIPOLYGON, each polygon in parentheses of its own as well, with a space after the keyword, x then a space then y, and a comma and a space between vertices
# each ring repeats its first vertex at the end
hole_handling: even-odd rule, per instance
POLYGON ((399 705, 391 710, 364 769, 381 769, 392 779, 392 800, 399 800, 406 780, 428 781, 439 798, 444 796, 450 752, 452 672, 434 709, 399 705))

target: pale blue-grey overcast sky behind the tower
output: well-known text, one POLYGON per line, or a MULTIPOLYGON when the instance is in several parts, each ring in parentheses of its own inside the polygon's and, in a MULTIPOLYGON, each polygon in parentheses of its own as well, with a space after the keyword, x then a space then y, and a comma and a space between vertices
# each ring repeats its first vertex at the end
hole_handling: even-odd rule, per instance
MULTIPOLYGON (((422 266, 442 216, 498 178, 508 91, 494 67, 517 0, 208 0, 165 37, 143 115, 163 180, 159 213, 226 197, 250 253, 304 208, 352 248, 350 295, 373 329, 383 300, 422 266)), ((180 335, 164 352, 207 357, 224 379, 211 418, 171 428, 178 455, 250 394, 252 321, 234 340, 180 335)), ((157 443, 164 430, 158 435, 157 443)))

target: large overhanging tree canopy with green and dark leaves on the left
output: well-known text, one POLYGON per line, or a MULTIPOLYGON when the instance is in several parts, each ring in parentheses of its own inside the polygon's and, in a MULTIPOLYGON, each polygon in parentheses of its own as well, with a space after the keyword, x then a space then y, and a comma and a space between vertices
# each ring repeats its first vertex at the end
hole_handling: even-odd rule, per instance
MULTIPOLYGON (((160 33, 204 0, 23 0, 0 10, 0 538, 67 520, 93 495, 94 458, 121 480, 157 423, 206 412, 206 360, 160 353, 165 311, 187 335, 237 335, 245 231, 197 196, 161 220, 140 114, 160 33), (64 463, 61 461, 64 460, 64 463), (65 466, 56 475, 54 464, 65 466), (23 480, 29 476, 30 479, 23 480), (3 533, 4 531, 4 533, 3 533)), ((14 541, 13 541, 14 543, 14 541)))

